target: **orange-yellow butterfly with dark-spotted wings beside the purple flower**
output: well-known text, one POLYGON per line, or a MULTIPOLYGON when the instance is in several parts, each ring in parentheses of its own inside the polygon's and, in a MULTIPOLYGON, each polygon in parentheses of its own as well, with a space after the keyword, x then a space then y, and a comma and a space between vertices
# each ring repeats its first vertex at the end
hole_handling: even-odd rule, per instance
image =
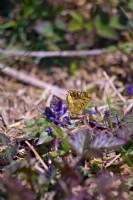
POLYGON ((69 90, 67 92, 68 110, 71 114, 75 114, 82 110, 90 101, 89 92, 69 90))

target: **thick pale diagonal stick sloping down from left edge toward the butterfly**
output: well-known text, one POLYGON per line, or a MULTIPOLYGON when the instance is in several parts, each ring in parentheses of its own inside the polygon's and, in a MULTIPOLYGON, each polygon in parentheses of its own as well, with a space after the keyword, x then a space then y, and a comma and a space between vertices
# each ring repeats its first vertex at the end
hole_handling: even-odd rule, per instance
POLYGON ((45 83, 44 81, 41 81, 37 78, 30 77, 29 75, 27 75, 23 72, 17 71, 8 66, 4 66, 3 64, 0 63, 0 69, 1 68, 2 68, 2 70, 0 71, 0 73, 2 73, 2 74, 11 76, 11 77, 15 78, 16 80, 19 80, 26 84, 33 85, 38 88, 49 89, 52 94, 54 94, 62 99, 65 99, 66 91, 62 88, 45 83))

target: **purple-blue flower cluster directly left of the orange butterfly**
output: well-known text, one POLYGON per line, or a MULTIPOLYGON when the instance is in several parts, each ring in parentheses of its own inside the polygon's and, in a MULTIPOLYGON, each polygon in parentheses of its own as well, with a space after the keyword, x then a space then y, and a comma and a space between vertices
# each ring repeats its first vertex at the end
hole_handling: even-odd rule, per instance
POLYGON ((43 114, 55 125, 61 127, 62 124, 69 123, 69 116, 64 116, 67 109, 67 106, 63 104, 61 99, 53 96, 50 107, 46 107, 43 114))

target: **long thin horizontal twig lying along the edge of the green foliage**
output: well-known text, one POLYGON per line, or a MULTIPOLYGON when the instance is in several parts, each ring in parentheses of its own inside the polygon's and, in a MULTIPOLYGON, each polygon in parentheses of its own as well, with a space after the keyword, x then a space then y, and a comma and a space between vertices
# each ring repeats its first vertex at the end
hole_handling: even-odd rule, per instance
POLYGON ((105 49, 94 49, 94 50, 82 50, 82 51, 9 51, 0 49, 0 53, 8 56, 22 56, 23 57, 79 57, 79 56, 97 56, 105 53, 105 49))

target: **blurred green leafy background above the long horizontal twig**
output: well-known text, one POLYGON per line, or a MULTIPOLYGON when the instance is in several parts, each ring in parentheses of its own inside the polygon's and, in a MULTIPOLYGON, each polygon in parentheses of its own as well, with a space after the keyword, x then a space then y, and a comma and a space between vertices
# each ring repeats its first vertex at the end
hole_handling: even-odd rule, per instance
POLYGON ((132 12, 132 0, 1 0, 0 48, 126 51, 132 12))

